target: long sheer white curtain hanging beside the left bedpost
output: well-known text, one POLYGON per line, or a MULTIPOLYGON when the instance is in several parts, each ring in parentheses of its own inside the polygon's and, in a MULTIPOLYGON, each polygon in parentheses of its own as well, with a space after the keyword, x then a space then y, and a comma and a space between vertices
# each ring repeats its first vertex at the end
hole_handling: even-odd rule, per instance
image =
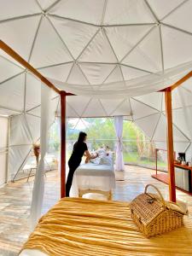
POLYGON ((30 224, 32 230, 38 224, 41 217, 41 210, 44 201, 44 157, 48 148, 48 131, 50 117, 50 94, 51 90, 44 84, 41 85, 41 131, 40 131, 40 151, 41 159, 38 163, 35 181, 32 190, 32 207, 30 224))

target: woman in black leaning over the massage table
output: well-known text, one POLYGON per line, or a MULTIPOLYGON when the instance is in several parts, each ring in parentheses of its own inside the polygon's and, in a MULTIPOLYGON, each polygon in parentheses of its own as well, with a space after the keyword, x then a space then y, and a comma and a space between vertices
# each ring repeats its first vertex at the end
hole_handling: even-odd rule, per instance
POLYGON ((85 143, 86 138, 87 134, 83 131, 80 131, 78 141, 74 143, 73 153, 68 160, 69 172, 66 183, 66 196, 69 196, 69 191, 73 182, 73 174, 80 165, 82 156, 85 154, 87 159, 95 158, 91 156, 90 152, 88 151, 87 144, 85 143))

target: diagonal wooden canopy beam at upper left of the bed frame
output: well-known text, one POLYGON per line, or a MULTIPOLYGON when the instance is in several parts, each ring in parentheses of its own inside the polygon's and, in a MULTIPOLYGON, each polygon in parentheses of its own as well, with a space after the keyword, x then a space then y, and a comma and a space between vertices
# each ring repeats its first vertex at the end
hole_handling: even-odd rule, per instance
MULTIPOLYGON (((11 56, 15 61, 18 61, 23 67, 25 67, 28 71, 33 73, 38 79, 40 79, 44 84, 49 86, 51 89, 55 90, 56 93, 60 94, 60 90, 58 90, 54 84, 50 83, 48 79, 46 79, 41 73, 38 72, 37 69, 32 67, 27 61, 25 61, 20 55, 18 55, 14 49, 11 49, 8 44, 5 44, 2 40, 0 40, 0 49, 3 49, 9 56, 11 56)), ((39 55, 39 57, 41 57, 39 55)))

